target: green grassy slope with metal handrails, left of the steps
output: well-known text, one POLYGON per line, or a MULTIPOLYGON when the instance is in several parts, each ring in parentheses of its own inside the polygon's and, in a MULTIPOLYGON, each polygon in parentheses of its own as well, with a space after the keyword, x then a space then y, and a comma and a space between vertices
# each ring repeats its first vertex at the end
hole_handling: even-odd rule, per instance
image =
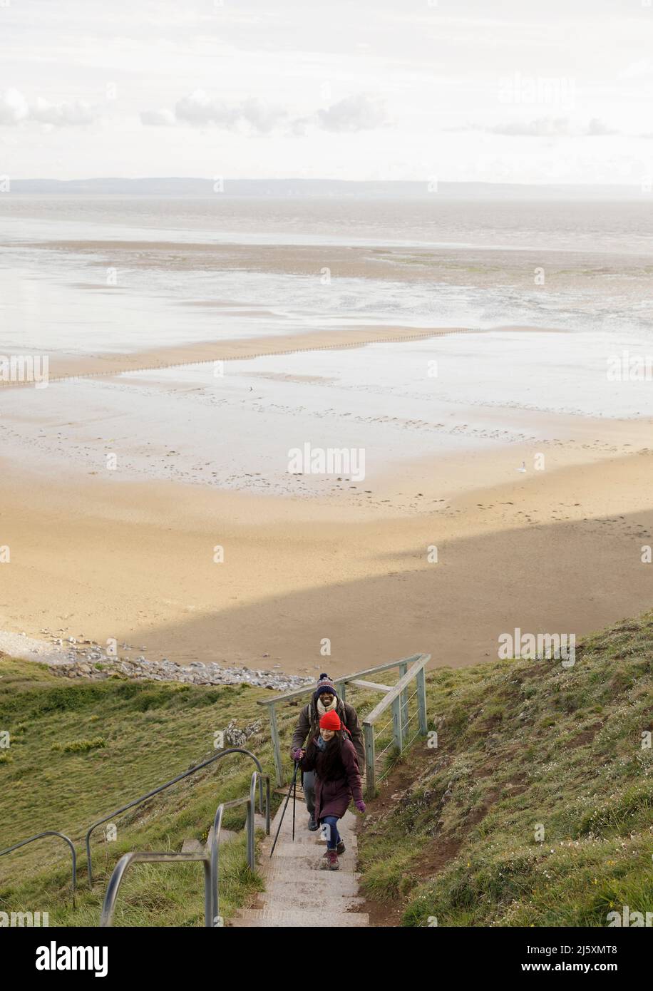
MULTIPOLYGON (((106 881, 132 849, 178 850, 205 839, 220 801, 247 794, 254 764, 227 757, 116 819, 117 839, 99 828, 93 841, 96 883, 89 892, 83 855, 87 826, 215 753, 213 733, 231 719, 262 719, 246 744, 272 767, 269 729, 257 699, 266 690, 208 688, 115 677, 70 682, 42 665, 0 659, 0 848, 43 829, 59 829, 79 854, 79 897, 70 907, 70 856, 61 840, 39 840, 0 858, 0 910, 49 911, 51 926, 95 926, 106 881)), ((228 811, 223 825, 244 825, 228 811)), ((221 912, 229 917, 259 887, 245 864, 245 837, 221 855, 221 912)), ((201 926, 202 867, 137 865, 118 900, 115 925, 201 926)))

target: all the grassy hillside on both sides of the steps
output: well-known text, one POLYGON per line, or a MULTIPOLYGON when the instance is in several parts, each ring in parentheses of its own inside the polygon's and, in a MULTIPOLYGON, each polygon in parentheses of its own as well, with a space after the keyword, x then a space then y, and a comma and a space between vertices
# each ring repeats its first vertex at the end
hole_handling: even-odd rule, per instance
MULTIPOLYGON (((588 639, 573 668, 505 661, 431 672, 438 746, 413 744, 361 824, 373 923, 604 926, 612 908, 653 911, 653 750, 642 746, 653 730, 652 659, 653 613, 588 639)), ((172 786, 118 817, 116 841, 99 829, 92 892, 85 828, 214 753, 214 732, 232 719, 239 727, 262 719, 247 746, 272 771, 257 706, 264 698, 270 693, 249 686, 68 681, 0 658, 0 730, 12 740, 0 750, 0 848, 56 828, 80 854, 76 909, 69 856, 49 838, 0 858, 0 910, 49 911, 54 926, 97 925, 118 857, 205 838, 218 803, 247 792, 253 765, 226 758, 172 786)), ((354 691, 348 699, 361 715, 378 701, 354 691)), ((297 712, 295 704, 278 715, 284 750, 297 712)), ((243 823, 237 810, 224 825, 243 823)), ((261 882, 245 866, 244 836, 224 849, 229 918, 261 882)), ((197 864, 136 866, 115 924, 201 926, 201 879, 197 864)))

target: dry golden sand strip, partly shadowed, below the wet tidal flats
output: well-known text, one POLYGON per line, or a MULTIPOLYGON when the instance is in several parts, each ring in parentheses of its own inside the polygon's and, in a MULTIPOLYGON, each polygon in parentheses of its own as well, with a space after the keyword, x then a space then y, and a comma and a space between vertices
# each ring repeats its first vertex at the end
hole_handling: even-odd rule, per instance
POLYGON ((518 473, 532 454, 518 447, 412 464, 371 482, 363 505, 351 493, 292 499, 3 470, 3 541, 15 548, 3 623, 290 673, 420 650, 471 664, 494 657, 515 626, 581 635, 651 594, 641 563, 653 532, 650 425, 614 424, 603 446, 592 432, 561 443, 546 472, 518 473))

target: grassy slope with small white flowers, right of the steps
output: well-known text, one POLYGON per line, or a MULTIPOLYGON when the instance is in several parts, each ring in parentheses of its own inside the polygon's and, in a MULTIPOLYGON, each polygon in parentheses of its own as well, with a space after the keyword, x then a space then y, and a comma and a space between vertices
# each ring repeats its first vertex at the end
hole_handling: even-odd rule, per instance
POLYGON ((622 905, 653 911, 652 661, 649 613, 586 640, 573 668, 431 674, 438 747, 404 754, 360 835, 373 918, 600 927, 622 905))

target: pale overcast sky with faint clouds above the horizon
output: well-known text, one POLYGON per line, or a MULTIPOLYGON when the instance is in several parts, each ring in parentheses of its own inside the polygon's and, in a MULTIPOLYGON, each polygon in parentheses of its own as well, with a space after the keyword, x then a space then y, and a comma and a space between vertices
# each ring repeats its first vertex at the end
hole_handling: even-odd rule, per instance
POLYGON ((0 0, 0 175, 651 182, 653 0, 0 0))

